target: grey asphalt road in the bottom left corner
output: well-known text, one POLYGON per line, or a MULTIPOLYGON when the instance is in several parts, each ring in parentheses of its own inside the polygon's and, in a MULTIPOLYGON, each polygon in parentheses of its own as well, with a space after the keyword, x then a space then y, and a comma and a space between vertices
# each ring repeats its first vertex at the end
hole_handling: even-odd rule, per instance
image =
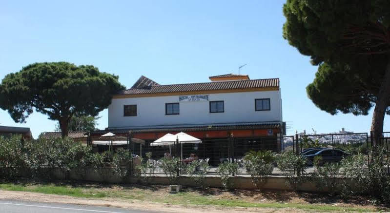
POLYGON ((114 207, 38 203, 0 199, 0 213, 156 213, 114 207))

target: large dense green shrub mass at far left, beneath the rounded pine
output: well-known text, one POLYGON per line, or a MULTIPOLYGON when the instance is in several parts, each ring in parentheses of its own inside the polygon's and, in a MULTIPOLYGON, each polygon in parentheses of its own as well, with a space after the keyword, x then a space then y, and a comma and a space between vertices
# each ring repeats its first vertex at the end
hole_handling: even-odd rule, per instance
POLYGON ((21 173, 31 174, 35 179, 50 179, 53 169, 68 174, 72 169, 96 165, 91 155, 91 147, 71 138, 0 137, 1 176, 6 179, 15 179, 21 173))

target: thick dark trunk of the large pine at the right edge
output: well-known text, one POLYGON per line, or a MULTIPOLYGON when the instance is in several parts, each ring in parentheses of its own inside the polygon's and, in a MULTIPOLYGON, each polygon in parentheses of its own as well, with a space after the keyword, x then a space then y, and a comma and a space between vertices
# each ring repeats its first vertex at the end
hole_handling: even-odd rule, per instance
POLYGON ((381 144, 381 137, 383 133, 383 120, 385 119, 386 109, 389 106, 390 98, 390 61, 386 67, 383 81, 375 102, 374 113, 372 115, 371 131, 373 134, 374 146, 381 144))

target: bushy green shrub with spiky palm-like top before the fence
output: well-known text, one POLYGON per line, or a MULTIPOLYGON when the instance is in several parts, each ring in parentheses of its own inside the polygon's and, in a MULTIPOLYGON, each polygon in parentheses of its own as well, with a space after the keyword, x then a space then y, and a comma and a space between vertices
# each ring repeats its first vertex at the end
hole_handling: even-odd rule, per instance
POLYGON ((250 151, 244 156, 244 167, 252 177, 253 185, 261 187, 272 174, 275 154, 272 151, 250 151))

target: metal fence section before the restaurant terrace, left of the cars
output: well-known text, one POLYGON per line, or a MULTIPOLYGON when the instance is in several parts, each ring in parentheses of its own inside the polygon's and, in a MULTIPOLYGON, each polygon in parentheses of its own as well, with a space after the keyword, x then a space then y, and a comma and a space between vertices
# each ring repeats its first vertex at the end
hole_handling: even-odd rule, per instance
MULTIPOLYGON (((219 164, 224 162, 242 162, 242 158, 249 151, 271 150, 280 153, 286 141, 292 140, 293 136, 267 136, 267 137, 228 137, 204 139, 200 144, 179 144, 175 146, 150 146, 152 141, 145 141, 144 145, 132 144, 131 152, 139 156, 146 153, 152 154, 149 163, 155 164, 156 169, 150 171, 153 174, 164 174, 158 167, 159 160, 167 153, 182 159, 190 155, 196 155, 198 159, 205 160, 210 165, 208 174, 216 174, 219 164)), ((240 164, 242 166, 242 164, 240 164)), ((241 168, 242 173, 246 171, 241 168)))

